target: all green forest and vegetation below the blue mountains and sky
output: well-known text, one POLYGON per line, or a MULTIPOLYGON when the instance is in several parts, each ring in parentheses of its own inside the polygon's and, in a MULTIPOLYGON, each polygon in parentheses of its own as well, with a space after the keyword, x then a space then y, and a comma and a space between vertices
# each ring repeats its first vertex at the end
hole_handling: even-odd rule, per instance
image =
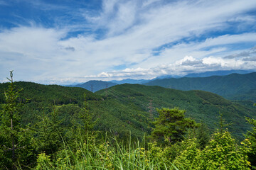
POLYGON ((256 108, 206 91, 0 84, 1 169, 255 169, 256 108))

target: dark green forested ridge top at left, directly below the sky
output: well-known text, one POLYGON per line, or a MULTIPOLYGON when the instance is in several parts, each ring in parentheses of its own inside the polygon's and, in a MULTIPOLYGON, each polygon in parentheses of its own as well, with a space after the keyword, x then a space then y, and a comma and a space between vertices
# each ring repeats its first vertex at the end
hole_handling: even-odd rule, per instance
MULTIPOLYGON (((90 91, 82 88, 71 88, 58 85, 43 85, 32 82, 17 81, 14 83, 16 89, 21 91, 21 98, 29 99, 28 103, 55 103, 56 105, 82 102, 86 94, 87 100, 96 100, 100 98, 90 91)), ((4 91, 8 89, 7 83, 0 84, 0 103, 4 102, 4 91)))

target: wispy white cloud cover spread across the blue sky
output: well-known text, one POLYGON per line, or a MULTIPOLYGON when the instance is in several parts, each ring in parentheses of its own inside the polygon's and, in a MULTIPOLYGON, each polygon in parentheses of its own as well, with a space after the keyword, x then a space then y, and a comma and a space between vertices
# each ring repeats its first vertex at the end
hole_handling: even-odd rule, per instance
MULTIPOLYGON (((35 6, 38 4, 40 1, 35 6)), ((5 71, 11 69, 19 72, 22 80, 55 82, 253 69, 253 58, 226 56, 248 50, 235 50, 233 45, 256 43, 255 31, 211 33, 230 29, 230 23, 236 23, 232 29, 244 23, 255 24, 255 16, 245 14, 255 6, 256 1, 250 0, 106 0, 98 15, 80 13, 82 23, 86 20, 86 26, 95 31, 91 34, 67 38, 70 31, 85 28, 79 23, 66 29, 34 25, 0 30, 0 78, 4 79, 5 71), (102 34, 100 38, 98 34, 102 34), (123 64, 130 67, 113 69, 123 64)))

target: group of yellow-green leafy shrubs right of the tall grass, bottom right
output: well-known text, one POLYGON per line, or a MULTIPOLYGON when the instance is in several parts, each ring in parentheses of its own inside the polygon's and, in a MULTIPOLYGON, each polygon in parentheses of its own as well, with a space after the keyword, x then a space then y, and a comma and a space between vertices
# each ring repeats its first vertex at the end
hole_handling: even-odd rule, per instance
MULTIPOLYGON (((247 140, 245 140, 246 142, 247 140)), ((185 140, 181 154, 175 159, 177 167, 183 169, 250 169, 246 155, 247 144, 238 146, 230 132, 215 132, 205 149, 196 147, 196 138, 185 140)))

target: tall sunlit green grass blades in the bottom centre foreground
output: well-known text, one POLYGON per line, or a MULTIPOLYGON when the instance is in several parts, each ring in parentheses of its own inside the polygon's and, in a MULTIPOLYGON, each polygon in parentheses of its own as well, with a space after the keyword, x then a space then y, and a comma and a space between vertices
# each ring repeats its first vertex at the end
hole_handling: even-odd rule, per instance
POLYGON ((145 142, 132 142, 131 138, 124 144, 106 135, 96 145, 95 138, 87 135, 87 140, 75 141, 72 147, 63 144, 55 157, 39 154, 36 169, 177 169, 164 158, 151 157, 145 142))

